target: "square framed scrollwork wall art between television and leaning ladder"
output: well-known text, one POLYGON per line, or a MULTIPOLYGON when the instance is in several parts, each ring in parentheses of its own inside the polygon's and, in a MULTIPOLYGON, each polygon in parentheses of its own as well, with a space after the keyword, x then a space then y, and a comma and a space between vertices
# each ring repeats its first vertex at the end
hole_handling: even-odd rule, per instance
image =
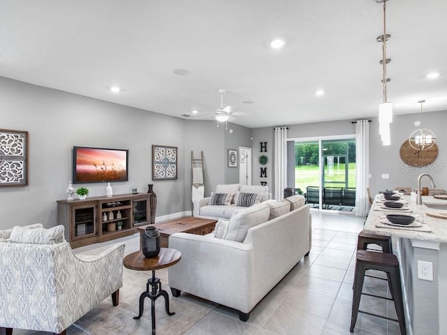
POLYGON ((152 180, 177 179, 177 147, 152 145, 152 180))

